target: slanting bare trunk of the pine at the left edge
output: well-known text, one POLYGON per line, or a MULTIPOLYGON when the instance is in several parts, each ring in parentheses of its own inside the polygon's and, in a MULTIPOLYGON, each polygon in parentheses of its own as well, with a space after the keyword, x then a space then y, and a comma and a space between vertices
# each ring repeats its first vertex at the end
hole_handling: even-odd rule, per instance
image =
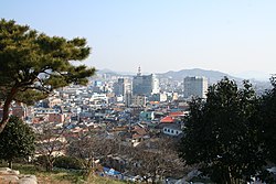
POLYGON ((2 118, 2 120, 0 122, 0 133, 3 131, 6 125, 9 121, 10 105, 11 105, 11 101, 13 100, 13 97, 15 96, 17 93, 18 93, 18 88, 12 87, 10 94, 8 95, 8 97, 4 100, 3 118, 2 118))

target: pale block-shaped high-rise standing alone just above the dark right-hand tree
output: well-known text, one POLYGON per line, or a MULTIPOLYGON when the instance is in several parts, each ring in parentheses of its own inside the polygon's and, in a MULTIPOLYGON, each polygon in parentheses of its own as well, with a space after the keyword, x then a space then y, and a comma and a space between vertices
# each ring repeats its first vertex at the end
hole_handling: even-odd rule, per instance
POLYGON ((208 79, 205 77, 184 78, 184 98, 199 97, 206 98, 208 79))

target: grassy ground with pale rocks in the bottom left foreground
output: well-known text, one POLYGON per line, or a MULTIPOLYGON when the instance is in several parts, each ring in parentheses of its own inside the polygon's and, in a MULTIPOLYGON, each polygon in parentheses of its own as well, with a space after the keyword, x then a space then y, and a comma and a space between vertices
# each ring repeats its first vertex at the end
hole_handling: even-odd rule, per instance
POLYGON ((81 172, 71 170, 55 170, 46 172, 42 167, 33 164, 14 163, 13 170, 0 164, 0 184, 125 184, 114 177, 103 177, 92 175, 84 177, 81 172), (7 170, 11 171, 7 173, 7 170), (21 181, 20 181, 20 180, 21 181))

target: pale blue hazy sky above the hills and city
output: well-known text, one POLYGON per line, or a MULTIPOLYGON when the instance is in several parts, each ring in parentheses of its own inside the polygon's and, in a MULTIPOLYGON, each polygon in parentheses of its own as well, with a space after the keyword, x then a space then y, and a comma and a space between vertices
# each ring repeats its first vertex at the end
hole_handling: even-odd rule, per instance
POLYGON ((97 69, 202 68, 276 73, 275 0, 7 0, 0 18, 49 35, 85 37, 97 69))

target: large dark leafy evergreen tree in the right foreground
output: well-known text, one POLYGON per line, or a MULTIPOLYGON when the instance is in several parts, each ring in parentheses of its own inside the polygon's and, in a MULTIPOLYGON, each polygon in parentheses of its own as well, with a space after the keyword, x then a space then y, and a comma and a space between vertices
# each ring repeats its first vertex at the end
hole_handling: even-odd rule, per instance
POLYGON ((258 100, 248 82, 238 89, 223 78, 208 90, 206 100, 190 104, 180 156, 192 165, 199 163, 204 175, 217 183, 250 181, 265 165, 257 138, 258 100))

